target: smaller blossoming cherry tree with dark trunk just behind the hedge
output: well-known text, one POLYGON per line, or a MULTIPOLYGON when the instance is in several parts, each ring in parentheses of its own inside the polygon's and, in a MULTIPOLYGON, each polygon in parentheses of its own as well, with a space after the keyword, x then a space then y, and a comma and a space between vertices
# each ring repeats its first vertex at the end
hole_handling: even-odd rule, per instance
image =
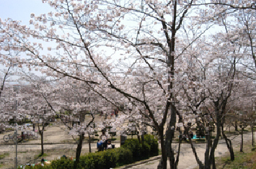
MULTIPOLYGON (((58 111, 61 121, 69 128, 71 136, 79 137, 76 141, 77 165, 85 135, 88 134, 90 137, 90 133, 94 132, 92 125, 95 113, 98 111, 97 97, 80 81, 63 78, 58 81, 57 86, 58 88, 54 88, 55 96, 52 104, 55 105, 54 109, 58 111)), ((89 142, 89 150, 90 147, 89 142)))

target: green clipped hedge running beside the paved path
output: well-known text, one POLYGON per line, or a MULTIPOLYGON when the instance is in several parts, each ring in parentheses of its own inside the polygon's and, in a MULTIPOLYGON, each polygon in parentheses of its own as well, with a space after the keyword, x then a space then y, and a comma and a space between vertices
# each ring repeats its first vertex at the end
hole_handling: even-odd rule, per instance
MULTIPOLYGON (((136 139, 125 140, 122 147, 106 151, 81 155, 79 169, 109 169, 122 165, 128 165, 138 160, 144 160, 151 156, 158 155, 158 142, 152 135, 144 135, 144 142, 139 143, 136 139)), ((50 165, 26 166, 26 169, 72 169, 74 160, 61 157, 53 160, 50 165)))

